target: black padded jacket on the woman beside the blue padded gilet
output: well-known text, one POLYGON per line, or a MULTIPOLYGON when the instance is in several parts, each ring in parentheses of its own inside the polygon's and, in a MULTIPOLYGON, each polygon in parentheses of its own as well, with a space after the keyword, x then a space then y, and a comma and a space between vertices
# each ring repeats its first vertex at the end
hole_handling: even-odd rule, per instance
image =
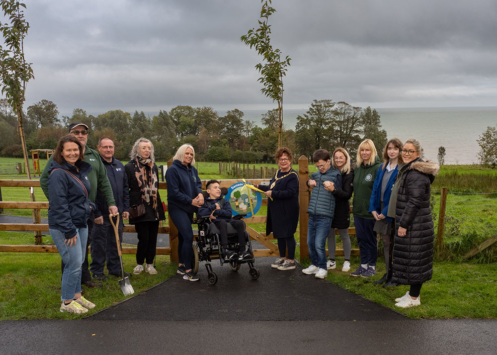
POLYGON ((335 188, 331 194, 335 196, 335 214, 331 228, 344 229, 350 227, 349 200, 354 192, 354 170, 348 174, 342 173, 342 187, 335 188))

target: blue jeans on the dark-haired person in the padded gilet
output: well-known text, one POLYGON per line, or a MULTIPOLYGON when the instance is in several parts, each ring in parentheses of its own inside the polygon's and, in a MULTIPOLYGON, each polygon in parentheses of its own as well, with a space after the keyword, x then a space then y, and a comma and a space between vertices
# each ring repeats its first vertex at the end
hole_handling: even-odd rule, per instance
POLYGON ((331 228, 331 218, 309 213, 307 227, 307 248, 311 263, 319 268, 326 268, 326 239, 331 228))

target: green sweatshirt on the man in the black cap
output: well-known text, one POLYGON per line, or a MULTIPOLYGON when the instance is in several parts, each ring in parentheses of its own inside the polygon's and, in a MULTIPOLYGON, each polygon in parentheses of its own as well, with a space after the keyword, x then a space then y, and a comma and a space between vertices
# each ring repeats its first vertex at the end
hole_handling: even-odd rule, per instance
MULTIPOLYGON (((86 163, 91 165, 91 172, 88 174, 88 180, 90 181, 90 192, 88 198, 91 202, 95 202, 97 187, 100 190, 100 193, 105 198, 105 202, 107 202, 108 206, 115 206, 116 201, 114 200, 114 194, 112 193, 112 187, 109 182, 109 178, 107 177, 107 170, 100 159, 100 155, 97 151, 86 147, 84 150, 84 159, 86 163)), ((40 176, 40 185, 43 193, 48 198, 48 168, 50 167, 50 163, 52 163, 52 157, 47 162, 45 169, 43 169, 43 173, 40 176)))

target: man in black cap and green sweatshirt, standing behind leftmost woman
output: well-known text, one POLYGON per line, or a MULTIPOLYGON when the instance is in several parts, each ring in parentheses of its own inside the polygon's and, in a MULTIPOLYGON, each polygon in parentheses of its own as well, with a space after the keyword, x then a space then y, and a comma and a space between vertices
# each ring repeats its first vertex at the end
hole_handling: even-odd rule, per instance
MULTIPOLYGON (((69 125, 69 134, 75 136, 83 146, 83 156, 84 161, 91 165, 91 172, 88 174, 88 179, 90 181, 90 191, 88 198, 95 202, 96 200, 96 192, 97 189, 100 190, 100 193, 104 196, 107 205, 109 206, 109 213, 117 214, 118 209, 116 207, 116 202, 114 200, 114 194, 112 193, 112 187, 109 182, 109 178, 107 177, 107 170, 100 159, 100 155, 97 151, 94 151, 91 148, 86 146, 86 142, 88 141, 88 126, 84 123, 71 123, 69 125)), ((40 176, 40 185, 43 193, 48 198, 48 167, 52 161, 52 157, 47 162, 43 173, 40 176)), ((103 211, 102 211, 103 213, 103 211)), ((90 218, 88 219, 88 241, 86 243, 86 250, 88 250, 88 245, 90 243, 89 236, 91 235, 91 228, 93 226, 94 213, 91 213, 90 218)), ((100 282, 94 282, 91 279, 90 272, 88 270, 88 253, 85 253, 84 262, 82 265, 82 273, 81 273, 81 283, 88 287, 100 287, 102 284, 100 282)), ((62 269, 64 270, 64 264, 62 264, 62 269)))

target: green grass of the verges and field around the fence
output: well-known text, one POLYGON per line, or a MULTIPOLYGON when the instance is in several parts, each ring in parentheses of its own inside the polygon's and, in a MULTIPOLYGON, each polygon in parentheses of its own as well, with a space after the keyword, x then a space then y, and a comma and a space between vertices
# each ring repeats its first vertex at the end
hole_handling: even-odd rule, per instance
MULTIPOLYGON (((22 161, 12 158, 0 158, 1 162, 22 161)), ((43 169, 44 163, 41 168, 43 169)), ((166 164, 158 162, 158 165, 166 164)), ((268 166, 260 164, 257 166, 268 166)), ((271 166, 269 166, 271 168, 271 166)), ((294 166, 294 168, 297 168, 294 166)), ((314 171, 312 166, 311 171, 314 171)), ((219 176, 218 163, 197 164, 200 177, 232 178, 219 176)), ((0 176, 14 178, 18 176, 0 176)), ((25 177, 21 177, 25 178, 25 177)), ((497 309, 488 307, 489 300, 497 297, 497 246, 488 248, 467 262, 460 257, 483 240, 497 233, 497 171, 478 166, 443 166, 432 186, 435 231, 439 208, 441 186, 448 186, 446 224, 444 233, 445 253, 434 264, 433 279, 423 285, 422 306, 402 310, 412 318, 497 318, 497 309), (479 263, 479 264, 477 264, 479 263)), ((29 190, 23 187, 2 187, 4 201, 29 201, 29 190)), ((46 201, 40 188, 35 188, 38 201, 46 201)), ((161 197, 166 200, 166 191, 161 190, 161 197)), ((42 210, 42 217, 47 211, 42 210)), ((30 210, 5 210, 5 214, 31 216, 30 210)), ((257 215, 265 215, 262 206, 257 215)), ((251 224, 259 232, 265 231, 265 224, 251 224)), ((298 233, 295 234, 299 242, 298 233)), ((341 244, 337 237, 337 248, 341 244)), ((355 238, 351 238, 352 247, 357 248, 355 238)), ((44 242, 51 243, 50 237, 44 242)), ((33 244, 32 233, 0 232, 0 244, 33 244)), ((380 246, 381 250, 381 246, 380 246)), ((297 246, 297 258, 300 248, 297 246)), ((134 266, 134 256, 125 255, 125 266, 129 270, 134 266)), ((381 260, 381 253, 379 254, 381 260)), ((67 318, 67 314, 58 312, 60 298, 60 256, 58 254, 2 253, 0 263, 0 319, 39 319, 67 318), (34 296, 33 296, 34 295, 34 296)), ((378 263, 377 276, 373 279, 353 278, 340 271, 343 258, 337 258, 338 267, 330 270, 328 279, 352 292, 386 307, 394 308, 393 299, 408 290, 408 286, 385 289, 374 285, 372 281, 381 277, 384 266, 378 263)), ((352 258, 352 266, 357 267, 358 258, 352 258)), ((307 261, 308 263, 308 261, 307 261)), ((304 266, 308 264, 304 261, 304 266)), ((143 273, 133 276, 131 283, 135 291, 143 291, 160 282, 175 272, 175 265, 169 264, 169 258, 158 256, 159 274, 152 276, 143 273)), ((122 295, 117 279, 104 282, 101 289, 89 289, 85 294, 97 303, 97 309, 119 302, 126 297, 122 295)), ((94 311, 92 311, 94 312, 94 311)))

